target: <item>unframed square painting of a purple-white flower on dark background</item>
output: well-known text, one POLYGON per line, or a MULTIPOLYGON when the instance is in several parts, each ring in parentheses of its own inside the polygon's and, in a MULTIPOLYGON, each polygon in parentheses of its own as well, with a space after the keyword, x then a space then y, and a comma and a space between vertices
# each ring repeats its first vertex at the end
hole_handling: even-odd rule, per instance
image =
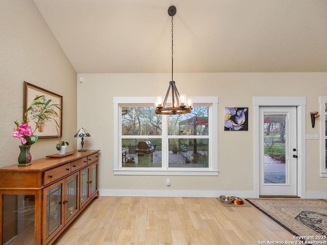
POLYGON ((248 107, 225 107, 225 131, 247 131, 248 110, 248 107))

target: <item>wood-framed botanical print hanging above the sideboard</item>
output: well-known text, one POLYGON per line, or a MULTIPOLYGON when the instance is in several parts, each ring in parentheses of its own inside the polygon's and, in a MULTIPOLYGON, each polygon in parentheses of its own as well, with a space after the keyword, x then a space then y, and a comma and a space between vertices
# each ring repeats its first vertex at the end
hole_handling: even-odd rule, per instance
POLYGON ((24 82, 23 114, 36 98, 38 98, 37 102, 47 104, 42 109, 50 113, 48 113, 49 116, 46 118, 40 118, 41 107, 35 106, 29 111, 27 120, 32 129, 36 129, 34 135, 37 135, 39 138, 57 138, 59 133, 59 136, 62 136, 62 96, 24 82), (49 100, 51 101, 48 104, 49 100))

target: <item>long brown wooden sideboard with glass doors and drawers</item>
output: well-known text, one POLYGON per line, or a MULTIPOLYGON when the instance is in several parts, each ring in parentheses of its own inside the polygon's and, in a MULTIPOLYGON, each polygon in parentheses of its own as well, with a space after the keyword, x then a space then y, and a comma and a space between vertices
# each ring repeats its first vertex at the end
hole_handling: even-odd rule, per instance
POLYGON ((52 244, 99 197, 99 152, 0 168, 0 244, 52 244))

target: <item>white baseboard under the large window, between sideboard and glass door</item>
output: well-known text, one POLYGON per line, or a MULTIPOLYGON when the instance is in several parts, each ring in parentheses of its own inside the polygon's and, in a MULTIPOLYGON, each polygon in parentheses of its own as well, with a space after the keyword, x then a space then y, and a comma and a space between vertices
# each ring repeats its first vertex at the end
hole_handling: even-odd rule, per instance
POLYGON ((229 195, 240 198, 255 198, 254 191, 223 190, 99 190, 100 197, 183 197, 183 198, 217 198, 229 195))

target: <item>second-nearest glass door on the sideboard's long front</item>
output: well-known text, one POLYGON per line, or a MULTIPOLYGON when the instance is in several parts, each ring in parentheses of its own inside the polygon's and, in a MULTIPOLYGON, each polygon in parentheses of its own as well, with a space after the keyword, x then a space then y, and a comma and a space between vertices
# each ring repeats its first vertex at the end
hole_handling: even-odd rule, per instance
POLYGON ((66 180, 65 220, 71 217, 78 210, 78 174, 66 180))

